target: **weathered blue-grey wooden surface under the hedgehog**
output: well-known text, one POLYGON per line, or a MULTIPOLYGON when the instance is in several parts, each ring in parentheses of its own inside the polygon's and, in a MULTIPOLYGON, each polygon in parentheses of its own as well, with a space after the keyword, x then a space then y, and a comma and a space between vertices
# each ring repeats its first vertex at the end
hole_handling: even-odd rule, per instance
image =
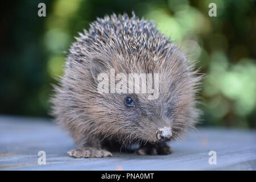
POLYGON ((181 142, 172 142, 174 153, 140 156, 115 152, 112 158, 73 159, 75 148, 67 133, 47 119, 0 116, 1 170, 255 170, 256 131, 200 128, 181 142), (46 164, 38 164, 38 152, 46 164), (210 165, 209 151, 217 164, 210 165))

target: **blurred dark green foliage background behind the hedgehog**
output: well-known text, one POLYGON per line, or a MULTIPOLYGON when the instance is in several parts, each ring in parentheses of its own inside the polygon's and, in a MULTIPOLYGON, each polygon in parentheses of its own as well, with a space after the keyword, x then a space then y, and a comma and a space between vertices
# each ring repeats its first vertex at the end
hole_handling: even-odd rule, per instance
POLYGON ((197 67, 203 125, 256 128, 255 1, 57 0, 1 2, 0 114, 49 117, 49 95, 74 36, 105 14, 154 19, 197 67), (46 17, 38 3, 46 3, 46 17), (209 17, 209 3, 217 17, 209 17))

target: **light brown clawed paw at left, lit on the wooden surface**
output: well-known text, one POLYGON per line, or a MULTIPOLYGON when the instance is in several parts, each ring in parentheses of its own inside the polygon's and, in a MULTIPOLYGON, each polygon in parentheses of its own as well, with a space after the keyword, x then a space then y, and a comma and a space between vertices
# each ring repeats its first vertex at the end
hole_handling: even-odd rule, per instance
POLYGON ((73 158, 104 158, 108 156, 113 156, 109 151, 93 147, 73 149, 71 151, 68 151, 68 154, 73 158))

